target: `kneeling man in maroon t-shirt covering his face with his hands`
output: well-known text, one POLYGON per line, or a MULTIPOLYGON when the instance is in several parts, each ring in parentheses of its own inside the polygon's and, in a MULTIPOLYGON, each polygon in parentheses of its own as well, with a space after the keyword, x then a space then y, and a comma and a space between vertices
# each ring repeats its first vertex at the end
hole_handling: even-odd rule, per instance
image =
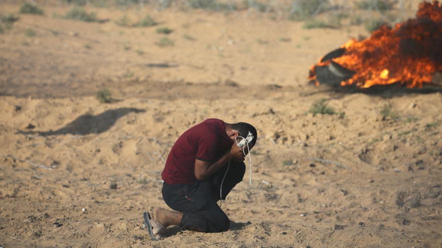
POLYGON ((185 131, 173 145, 161 174, 163 199, 175 211, 155 208, 153 218, 146 213, 152 238, 169 225, 202 232, 228 230, 230 220, 216 202, 225 200, 243 180, 243 161, 256 139, 252 125, 218 119, 207 119, 185 131), (241 148, 238 143, 245 145, 241 148))

